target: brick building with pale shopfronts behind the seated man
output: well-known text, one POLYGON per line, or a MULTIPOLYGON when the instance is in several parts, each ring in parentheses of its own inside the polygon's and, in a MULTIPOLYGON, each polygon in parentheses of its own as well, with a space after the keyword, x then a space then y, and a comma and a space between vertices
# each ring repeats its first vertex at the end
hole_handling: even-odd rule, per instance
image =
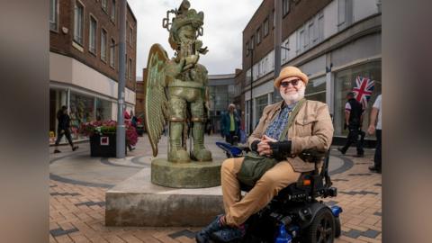
MULTIPOLYGON (((366 128, 371 106, 382 86, 381 1, 281 0, 281 4, 282 67, 300 67, 309 76, 306 97, 329 104, 335 137, 347 134, 343 130, 345 97, 355 86, 356 78, 374 80, 374 92, 365 112, 366 128)), ((244 74, 239 79, 246 130, 249 119, 257 124, 264 107, 275 102, 274 45, 275 1, 264 0, 243 31, 244 74)))

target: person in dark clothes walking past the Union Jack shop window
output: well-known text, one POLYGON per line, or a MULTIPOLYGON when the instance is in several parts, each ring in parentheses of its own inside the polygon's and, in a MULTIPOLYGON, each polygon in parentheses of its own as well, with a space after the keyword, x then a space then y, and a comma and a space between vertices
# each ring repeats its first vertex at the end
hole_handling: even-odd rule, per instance
POLYGON ((356 100, 353 92, 349 92, 347 94, 347 103, 345 104, 345 129, 348 129, 347 143, 344 147, 338 148, 343 155, 345 155, 347 149, 353 143, 356 143, 356 157, 364 157, 365 155, 363 139, 358 139, 358 136, 363 133, 363 131, 361 131, 363 112, 362 103, 356 100))

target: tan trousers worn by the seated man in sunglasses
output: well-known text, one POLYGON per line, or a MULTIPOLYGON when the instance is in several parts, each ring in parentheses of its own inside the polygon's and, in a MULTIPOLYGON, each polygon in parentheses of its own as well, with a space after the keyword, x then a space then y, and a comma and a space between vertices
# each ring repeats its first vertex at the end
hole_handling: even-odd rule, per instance
POLYGON ((225 219, 230 226, 239 226, 252 214, 263 209, 279 191, 297 182, 301 173, 282 161, 269 169, 242 199, 237 174, 244 157, 228 158, 220 168, 225 219), (240 200, 241 199, 241 200, 240 200))

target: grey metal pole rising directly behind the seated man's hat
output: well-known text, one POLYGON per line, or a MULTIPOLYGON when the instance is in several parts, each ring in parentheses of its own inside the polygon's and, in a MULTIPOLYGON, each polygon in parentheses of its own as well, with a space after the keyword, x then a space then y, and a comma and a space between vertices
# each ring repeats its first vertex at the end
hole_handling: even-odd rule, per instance
MULTIPOLYGON (((282 0, 275 0, 275 79, 281 72, 281 42, 282 42, 282 0)), ((281 94, 276 87, 273 90, 273 103, 281 100, 281 94)))

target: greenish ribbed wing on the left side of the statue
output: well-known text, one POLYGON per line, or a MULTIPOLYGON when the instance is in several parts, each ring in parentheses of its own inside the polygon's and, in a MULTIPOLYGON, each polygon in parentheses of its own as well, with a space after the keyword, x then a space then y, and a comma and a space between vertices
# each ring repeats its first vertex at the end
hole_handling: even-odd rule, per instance
POLYGON ((165 66, 168 55, 159 44, 154 44, 148 53, 147 72, 145 80, 145 124, 150 140, 153 156, 157 156, 157 143, 166 125, 167 118, 167 94, 165 66))

